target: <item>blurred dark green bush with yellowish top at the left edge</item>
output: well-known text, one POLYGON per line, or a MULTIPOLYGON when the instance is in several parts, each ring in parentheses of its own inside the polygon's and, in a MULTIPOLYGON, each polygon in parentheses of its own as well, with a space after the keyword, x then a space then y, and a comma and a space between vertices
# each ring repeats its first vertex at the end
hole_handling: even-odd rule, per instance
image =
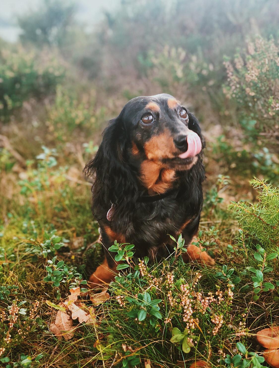
POLYGON ((64 78, 64 68, 55 59, 41 63, 34 52, 19 47, 1 51, 0 111, 1 118, 10 115, 30 97, 42 98, 55 91, 64 78))

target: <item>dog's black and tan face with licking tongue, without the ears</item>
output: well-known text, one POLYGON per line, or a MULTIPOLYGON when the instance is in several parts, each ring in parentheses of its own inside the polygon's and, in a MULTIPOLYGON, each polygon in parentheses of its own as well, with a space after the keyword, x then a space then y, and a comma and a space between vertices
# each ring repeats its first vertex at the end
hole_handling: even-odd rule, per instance
POLYGON ((167 94, 130 100, 118 120, 131 153, 162 168, 188 170, 204 147, 197 119, 167 94))

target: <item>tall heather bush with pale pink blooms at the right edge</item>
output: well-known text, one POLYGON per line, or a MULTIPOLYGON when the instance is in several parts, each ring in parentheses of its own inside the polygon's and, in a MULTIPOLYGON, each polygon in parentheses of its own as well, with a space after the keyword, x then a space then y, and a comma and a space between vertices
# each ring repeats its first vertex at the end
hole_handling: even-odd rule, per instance
MULTIPOLYGON (((271 38, 256 38, 247 43, 247 51, 239 52, 224 62, 227 86, 224 93, 235 100, 241 125, 245 129, 249 121, 257 132, 278 130, 279 116, 279 57, 278 48, 271 38)), ((249 125, 248 125, 249 126, 249 125)))

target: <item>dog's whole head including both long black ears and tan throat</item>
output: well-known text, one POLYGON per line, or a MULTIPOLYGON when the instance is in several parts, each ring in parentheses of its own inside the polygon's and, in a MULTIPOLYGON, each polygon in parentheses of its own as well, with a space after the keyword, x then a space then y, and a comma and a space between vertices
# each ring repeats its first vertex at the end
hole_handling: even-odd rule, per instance
POLYGON ((183 173, 186 181, 193 176, 202 181, 203 148, 197 119, 173 96, 130 100, 110 121, 95 158, 85 167, 85 173, 96 173, 93 207, 112 202, 124 212, 142 187, 163 193, 183 173))

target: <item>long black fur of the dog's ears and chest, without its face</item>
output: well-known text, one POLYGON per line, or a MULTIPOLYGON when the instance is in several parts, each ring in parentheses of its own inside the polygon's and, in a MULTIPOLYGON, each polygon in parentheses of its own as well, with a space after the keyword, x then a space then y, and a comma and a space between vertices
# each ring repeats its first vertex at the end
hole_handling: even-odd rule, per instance
MULTIPOLYGON (((130 107, 129 113, 131 110, 133 108, 130 107)), ((92 212, 100 224, 106 249, 112 241, 103 227, 110 226, 115 233, 124 235, 127 242, 135 244, 136 256, 150 256, 151 252, 163 256, 173 247, 167 234, 177 237, 187 219, 193 220, 183 230, 186 244, 198 230, 205 178, 202 151, 190 170, 177 171, 177 180, 173 183, 175 190, 170 195, 154 202, 144 202, 141 199, 148 192, 139 180, 141 160, 130 153, 133 133, 126 124, 126 115, 124 107, 120 115, 110 121, 95 158, 85 167, 87 175, 96 175, 92 186, 92 212), (106 214, 112 204, 115 211, 109 222, 106 214)), ((198 121, 191 113, 188 116, 188 128, 199 135, 203 150, 205 143, 198 121)), ((141 155, 144 157, 143 150, 141 155)), ((107 261, 112 265, 112 258, 107 257, 107 261)))

